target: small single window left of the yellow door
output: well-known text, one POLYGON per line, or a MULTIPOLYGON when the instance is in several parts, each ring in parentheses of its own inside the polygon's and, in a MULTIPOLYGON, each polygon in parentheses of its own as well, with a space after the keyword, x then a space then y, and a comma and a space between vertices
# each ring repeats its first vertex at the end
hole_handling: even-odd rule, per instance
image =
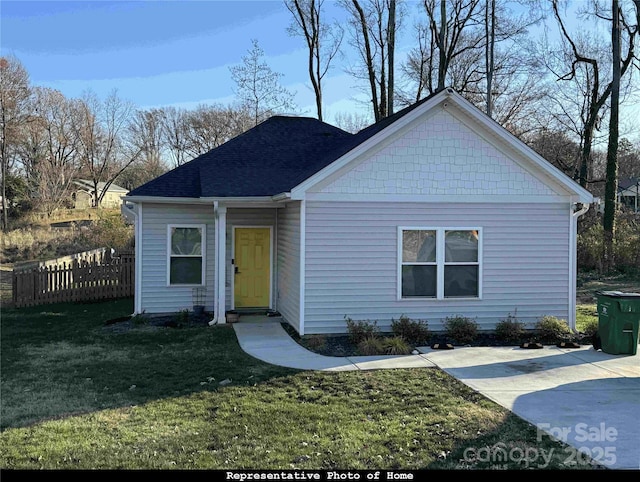
POLYGON ((169 286, 204 284, 205 226, 169 225, 169 286))

